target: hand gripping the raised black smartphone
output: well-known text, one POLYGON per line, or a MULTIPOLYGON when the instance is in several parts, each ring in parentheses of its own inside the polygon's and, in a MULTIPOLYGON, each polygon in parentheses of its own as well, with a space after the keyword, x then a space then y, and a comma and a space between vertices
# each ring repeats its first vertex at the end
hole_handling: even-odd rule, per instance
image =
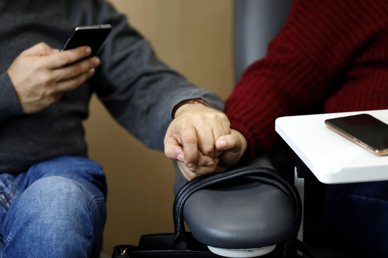
POLYGON ((23 113, 36 113, 49 107, 64 92, 90 78, 100 64, 99 58, 79 61, 90 53, 87 46, 59 52, 39 43, 17 56, 7 72, 23 113))

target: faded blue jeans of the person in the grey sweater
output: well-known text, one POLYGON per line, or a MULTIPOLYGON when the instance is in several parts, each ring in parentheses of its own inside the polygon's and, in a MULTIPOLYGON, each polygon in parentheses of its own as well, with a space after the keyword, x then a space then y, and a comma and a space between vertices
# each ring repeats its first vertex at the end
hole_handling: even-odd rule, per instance
POLYGON ((0 257, 99 257, 105 197, 104 172, 86 158, 0 174, 0 257))

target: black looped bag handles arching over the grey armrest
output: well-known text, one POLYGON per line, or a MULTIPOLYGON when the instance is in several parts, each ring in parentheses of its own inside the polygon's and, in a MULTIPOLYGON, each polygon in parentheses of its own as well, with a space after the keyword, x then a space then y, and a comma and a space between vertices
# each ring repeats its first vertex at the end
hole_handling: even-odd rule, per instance
MULTIPOLYGON (((294 207, 295 228, 293 236, 287 241, 285 245, 285 255, 291 250, 291 244, 296 239, 302 219, 302 205, 300 196, 294 184, 291 183, 291 181, 286 176, 279 173, 276 169, 264 166, 241 167, 239 169, 225 171, 223 173, 204 175, 193 179, 182 186, 182 188, 177 193, 177 196, 175 197, 173 205, 175 230, 173 245, 176 250, 187 250, 189 248, 183 219, 183 207, 186 200, 198 190, 235 178, 241 178, 247 181, 257 181, 267 185, 275 186, 288 196, 294 207)), ((301 242, 298 243, 298 245, 305 246, 301 242)), ((305 249, 308 251, 306 246, 305 249)), ((314 257, 310 251, 308 251, 306 254, 310 255, 312 258, 314 257)))

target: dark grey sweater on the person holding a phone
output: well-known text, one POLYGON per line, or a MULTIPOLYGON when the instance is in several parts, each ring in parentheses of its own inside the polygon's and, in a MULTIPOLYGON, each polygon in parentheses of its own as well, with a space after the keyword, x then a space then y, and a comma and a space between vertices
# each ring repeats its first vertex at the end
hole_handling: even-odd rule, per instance
POLYGON ((103 0, 1 0, 0 89, 0 173, 23 171, 51 157, 87 156, 81 122, 93 92, 130 133, 160 150, 178 103, 199 98, 223 109, 217 95, 160 62, 125 16, 103 0), (49 108, 23 114, 7 75, 13 60, 39 42, 61 48, 74 27, 94 24, 113 26, 95 75, 49 108))

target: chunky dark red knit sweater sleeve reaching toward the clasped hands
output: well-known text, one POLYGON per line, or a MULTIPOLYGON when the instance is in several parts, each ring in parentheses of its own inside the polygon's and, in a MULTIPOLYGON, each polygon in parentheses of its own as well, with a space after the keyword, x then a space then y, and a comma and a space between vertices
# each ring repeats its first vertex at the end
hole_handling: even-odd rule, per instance
POLYGON ((231 128, 246 137, 252 155, 274 142, 276 118, 307 113, 338 89, 333 80, 386 27, 386 11, 384 1, 294 2, 265 58, 226 101, 231 128))

